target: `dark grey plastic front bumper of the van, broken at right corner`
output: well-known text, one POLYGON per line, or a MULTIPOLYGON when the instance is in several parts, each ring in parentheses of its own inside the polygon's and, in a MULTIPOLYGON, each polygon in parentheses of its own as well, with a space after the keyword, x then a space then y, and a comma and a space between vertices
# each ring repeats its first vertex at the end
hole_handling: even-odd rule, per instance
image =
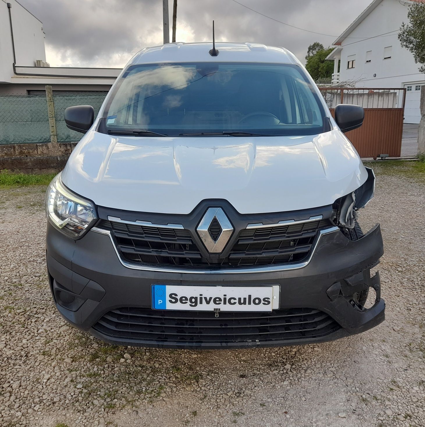
MULTIPOLYGON (((383 252, 381 230, 376 225, 357 241, 348 240, 339 230, 323 235, 308 265, 300 269, 240 274, 155 272, 123 266, 105 234, 91 230, 81 240, 71 240, 52 225, 47 225, 47 268, 57 309, 77 328, 120 345, 264 347, 324 342, 363 332, 384 321, 385 304, 381 299, 379 274, 370 277, 370 269, 378 263, 383 252), (147 338, 132 333, 123 337, 120 333, 105 332, 97 326, 100 319, 114 309, 138 307, 149 310, 153 283, 211 286, 279 284, 279 310, 282 313, 305 307, 320 310, 334 321, 335 327, 327 333, 290 333, 285 336, 264 333, 262 325, 257 333, 252 328, 247 329, 252 330, 252 335, 246 334, 244 339, 235 340, 226 336, 228 325, 217 324, 224 328, 220 339, 190 340, 185 338, 184 328, 181 328, 180 336, 174 334, 164 339, 163 334, 159 337, 160 334, 152 332, 146 335, 147 338), (357 304, 354 295, 368 287, 375 289, 377 298, 373 307, 365 310, 357 304), (260 330, 262 332, 258 334, 260 330)), ((211 314, 211 318, 213 316, 211 314)), ((196 312, 193 312, 193 322, 197 320, 196 312)), ((282 330, 285 328, 283 325, 282 330)))

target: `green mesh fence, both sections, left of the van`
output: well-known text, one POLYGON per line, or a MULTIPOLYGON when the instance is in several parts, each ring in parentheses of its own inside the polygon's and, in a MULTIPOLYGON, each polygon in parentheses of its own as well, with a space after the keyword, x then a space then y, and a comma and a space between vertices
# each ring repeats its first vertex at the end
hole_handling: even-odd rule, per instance
MULTIPOLYGON (((53 91, 58 142, 76 142, 82 134, 68 129, 65 108, 92 105, 95 117, 107 91, 53 91)), ((45 91, 28 95, 0 95, 0 144, 50 142, 49 118, 45 91)))

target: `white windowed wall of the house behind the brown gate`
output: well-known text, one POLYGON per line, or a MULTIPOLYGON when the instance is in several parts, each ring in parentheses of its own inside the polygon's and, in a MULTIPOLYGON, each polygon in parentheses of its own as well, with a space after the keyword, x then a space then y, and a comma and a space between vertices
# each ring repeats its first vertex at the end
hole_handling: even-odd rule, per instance
POLYGON ((383 0, 348 35, 341 46, 340 81, 358 80, 358 87, 402 88, 404 83, 423 81, 412 53, 404 49, 397 38, 402 22, 407 22, 408 3, 402 0, 383 0), (395 31, 394 31, 395 30, 395 31), (355 37, 390 35, 357 41, 355 37), (391 59, 384 58, 384 47, 392 46, 391 59), (372 61, 366 63, 366 52, 372 50, 372 61), (355 68, 347 69, 347 57, 356 56, 355 68), (376 74, 376 77, 373 76, 376 74))

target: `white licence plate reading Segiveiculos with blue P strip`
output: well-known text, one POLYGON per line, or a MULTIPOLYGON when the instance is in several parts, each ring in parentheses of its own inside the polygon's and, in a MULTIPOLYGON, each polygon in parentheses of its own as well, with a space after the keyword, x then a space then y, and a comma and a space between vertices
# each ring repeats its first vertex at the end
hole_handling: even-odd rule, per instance
POLYGON ((152 285, 155 310, 272 311, 279 308, 279 285, 152 285))

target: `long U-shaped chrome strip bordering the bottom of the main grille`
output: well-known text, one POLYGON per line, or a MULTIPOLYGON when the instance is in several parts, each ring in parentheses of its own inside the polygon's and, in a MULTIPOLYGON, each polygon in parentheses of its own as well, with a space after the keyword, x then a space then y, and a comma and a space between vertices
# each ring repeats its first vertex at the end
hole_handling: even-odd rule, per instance
MULTIPOLYGON (((322 216, 320 216, 321 219, 322 216)), ((317 220, 317 219, 316 219, 317 220)), ((304 221, 305 222, 305 221, 304 221)), ((293 222, 291 222, 292 224, 293 222)), ((140 225, 140 224, 138 224, 140 225)), ((320 230, 317 234, 316 239, 314 240, 313 247, 311 248, 310 254, 308 255, 308 258, 300 263, 287 263, 284 265, 271 265, 271 266, 264 266, 264 267, 247 267, 247 268, 240 268, 240 267, 233 267, 233 268, 221 268, 221 269, 187 269, 187 268, 172 268, 172 267, 160 267, 160 266, 143 266, 136 263, 129 263, 127 261, 123 261, 123 259, 120 257, 120 254, 118 252, 117 247, 115 246, 114 239, 111 235, 111 232, 108 230, 103 230, 102 228, 93 227, 91 228, 91 231, 94 231, 95 233, 104 234, 109 236, 109 239, 111 240, 112 246, 115 250, 115 253, 117 254, 118 260, 120 263, 129 269, 133 270, 143 270, 143 271, 155 271, 155 272, 163 272, 163 273, 188 273, 192 275, 196 274, 244 274, 244 273, 265 273, 265 272, 279 272, 279 271, 287 271, 287 270, 297 270, 301 269, 305 266, 307 266, 311 259, 313 258, 314 253, 316 252, 317 245, 319 244, 320 238, 325 234, 335 233, 339 232, 340 229, 338 227, 329 227, 325 228, 324 230, 320 230)))

